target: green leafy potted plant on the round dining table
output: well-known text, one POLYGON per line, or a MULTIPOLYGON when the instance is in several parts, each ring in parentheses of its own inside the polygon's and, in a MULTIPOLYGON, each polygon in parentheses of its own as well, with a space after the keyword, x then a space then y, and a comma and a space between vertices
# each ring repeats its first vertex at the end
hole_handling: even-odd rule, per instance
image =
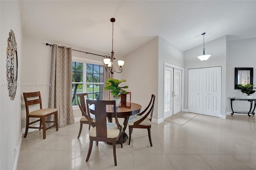
POLYGON ((110 90, 110 93, 112 93, 112 95, 114 95, 113 100, 116 100, 116 106, 118 106, 119 102, 120 102, 120 98, 118 97, 118 95, 127 93, 127 91, 122 90, 122 89, 127 89, 128 86, 124 86, 124 87, 118 86, 123 81, 126 81, 126 80, 125 79, 122 79, 122 80, 108 79, 106 81, 106 86, 104 87, 105 90, 110 90))

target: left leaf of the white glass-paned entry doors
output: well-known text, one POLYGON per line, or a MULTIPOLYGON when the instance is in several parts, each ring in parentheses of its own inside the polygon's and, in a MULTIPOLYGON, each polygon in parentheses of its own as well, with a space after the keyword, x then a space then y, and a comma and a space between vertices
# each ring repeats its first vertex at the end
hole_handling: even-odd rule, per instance
POLYGON ((164 67, 164 119, 173 114, 173 68, 164 67))

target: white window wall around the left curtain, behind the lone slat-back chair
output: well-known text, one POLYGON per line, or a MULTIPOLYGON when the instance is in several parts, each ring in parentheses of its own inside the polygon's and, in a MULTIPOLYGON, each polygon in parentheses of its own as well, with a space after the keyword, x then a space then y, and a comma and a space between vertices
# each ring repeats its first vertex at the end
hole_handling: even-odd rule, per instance
MULTIPOLYGON (((22 83, 50 83, 50 66, 52 47, 46 46, 45 43, 63 45, 59 42, 48 42, 47 40, 40 40, 38 38, 24 36, 23 39, 23 59, 22 59, 22 83)), ((64 44, 67 47, 72 47, 80 51, 86 51, 90 53, 96 53, 104 55, 100 51, 94 51, 82 47, 74 47, 72 45, 64 44)), ((78 51, 72 51, 73 57, 79 57, 83 59, 91 59, 97 61, 103 61, 103 57, 86 54, 78 51)), ((40 91, 42 97, 43 108, 48 108, 49 99, 49 86, 22 86, 23 92, 40 91)), ((81 111, 78 107, 74 110, 74 118, 81 117, 81 111)), ((26 125, 26 109, 22 96, 22 127, 26 125)))

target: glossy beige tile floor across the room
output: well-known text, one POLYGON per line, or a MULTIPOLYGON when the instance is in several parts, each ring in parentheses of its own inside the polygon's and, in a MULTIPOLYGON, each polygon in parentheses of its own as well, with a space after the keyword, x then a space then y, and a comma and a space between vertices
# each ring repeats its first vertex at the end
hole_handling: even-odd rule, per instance
MULTIPOLYGON (((80 123, 46 131, 29 132, 22 138, 17 170, 256 170, 256 119, 246 115, 227 119, 197 115, 183 126, 152 124, 153 147, 146 129, 134 129, 131 145, 104 142, 88 147, 88 125, 77 138, 80 123)), ((128 132, 128 128, 126 129, 128 132)))

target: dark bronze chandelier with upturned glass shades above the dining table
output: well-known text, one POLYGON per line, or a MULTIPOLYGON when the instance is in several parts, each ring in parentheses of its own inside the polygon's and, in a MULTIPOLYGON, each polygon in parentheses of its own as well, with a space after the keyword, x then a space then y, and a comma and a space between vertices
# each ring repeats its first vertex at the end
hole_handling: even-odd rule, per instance
POLYGON ((112 52, 111 52, 111 57, 110 58, 105 58, 103 59, 104 63, 105 63, 105 69, 108 73, 113 74, 114 72, 116 73, 121 73, 123 71, 122 66, 124 65, 124 61, 122 60, 118 60, 118 65, 119 65, 119 70, 120 72, 117 72, 114 68, 114 51, 113 51, 113 37, 114 37, 114 22, 116 21, 115 18, 111 18, 110 21, 112 22, 112 52))

